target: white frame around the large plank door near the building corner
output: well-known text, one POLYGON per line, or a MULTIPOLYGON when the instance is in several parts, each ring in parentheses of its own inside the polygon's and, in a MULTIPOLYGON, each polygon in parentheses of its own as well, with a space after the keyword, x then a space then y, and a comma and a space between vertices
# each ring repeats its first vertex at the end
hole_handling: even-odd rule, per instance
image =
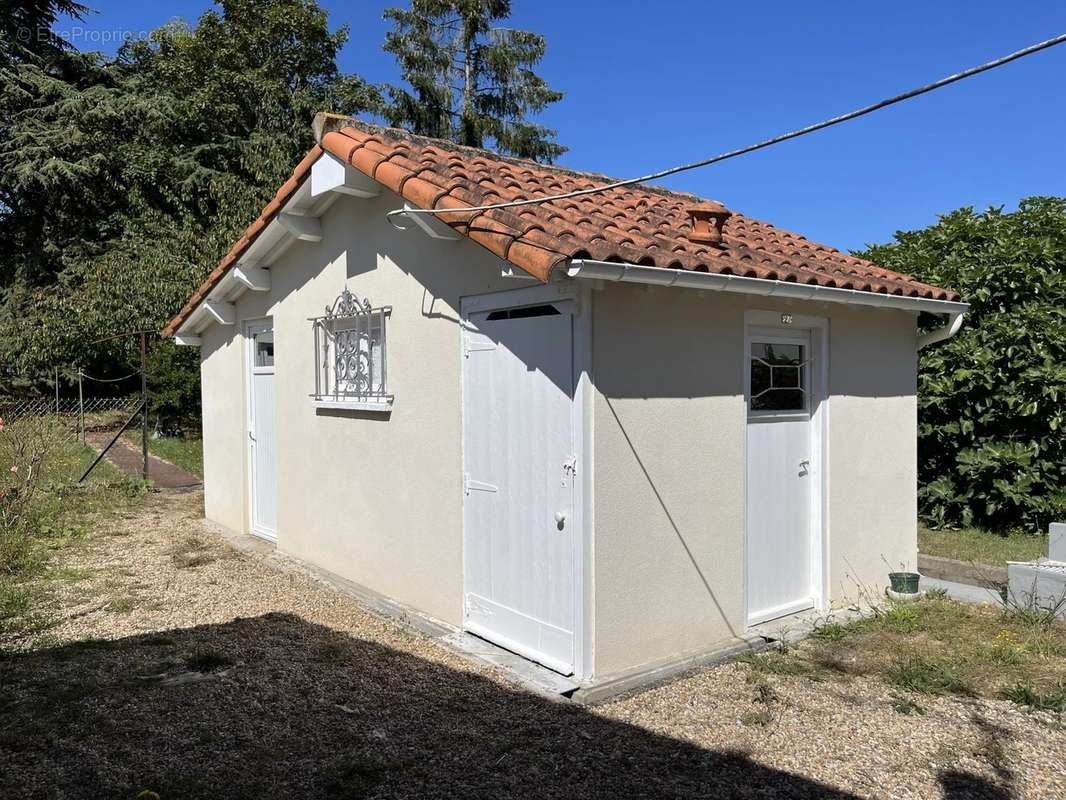
MULTIPOLYGON (((574 537, 574 679, 592 675, 592 526, 593 526, 593 459, 592 459, 592 302, 586 287, 566 284, 530 286, 521 289, 471 294, 459 299, 459 358, 465 357, 467 318, 478 311, 491 311, 520 305, 536 305, 560 300, 574 302, 574 402, 571 423, 577 449, 577 480, 574 483, 574 515, 578 534, 574 537)), ((462 361, 459 364, 462 365, 462 361)), ((465 370, 463 370, 465 372, 465 370)), ((461 427, 465 411, 465 381, 461 381, 461 427)), ((466 433, 459 437, 462 475, 466 471, 466 433)), ((461 481, 462 483, 462 481, 461 481)), ((463 547, 466 547, 466 494, 461 486, 464 503, 463 547)), ((466 556, 463 557, 463 592, 466 592, 466 556)))

